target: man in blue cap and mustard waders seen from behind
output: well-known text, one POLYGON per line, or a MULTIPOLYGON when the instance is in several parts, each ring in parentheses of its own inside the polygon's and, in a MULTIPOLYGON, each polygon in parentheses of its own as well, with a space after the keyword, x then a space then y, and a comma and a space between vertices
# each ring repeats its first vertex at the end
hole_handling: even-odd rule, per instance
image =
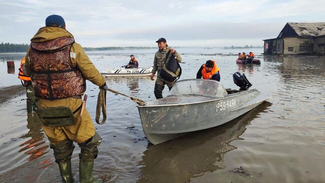
POLYGON ((86 89, 85 79, 107 89, 105 79, 81 45, 74 42, 73 35, 65 30, 61 16, 48 16, 45 25, 30 39, 25 61, 35 95, 40 98, 36 112, 42 119, 62 182, 74 181, 71 173, 73 142, 81 149, 80 182, 102 182, 92 177, 93 160, 97 157, 101 137, 95 131, 88 111, 82 109, 80 116, 80 108, 81 95, 86 89), (67 112, 66 116, 59 111, 67 112), (54 116, 46 117, 50 114, 54 116))

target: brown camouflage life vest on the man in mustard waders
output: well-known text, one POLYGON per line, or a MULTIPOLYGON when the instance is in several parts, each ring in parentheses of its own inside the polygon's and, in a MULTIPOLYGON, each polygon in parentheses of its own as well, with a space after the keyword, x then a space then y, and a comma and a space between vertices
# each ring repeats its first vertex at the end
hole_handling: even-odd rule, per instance
POLYGON ((70 58, 73 43, 74 39, 69 37, 30 43, 29 62, 35 96, 60 99, 85 91, 85 79, 70 58))

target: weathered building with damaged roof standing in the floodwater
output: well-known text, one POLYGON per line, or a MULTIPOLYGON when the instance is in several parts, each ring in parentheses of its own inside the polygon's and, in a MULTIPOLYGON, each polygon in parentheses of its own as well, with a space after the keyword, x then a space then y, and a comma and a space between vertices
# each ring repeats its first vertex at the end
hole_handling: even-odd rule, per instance
POLYGON ((264 54, 324 54, 325 22, 288 22, 276 38, 263 41, 264 54))

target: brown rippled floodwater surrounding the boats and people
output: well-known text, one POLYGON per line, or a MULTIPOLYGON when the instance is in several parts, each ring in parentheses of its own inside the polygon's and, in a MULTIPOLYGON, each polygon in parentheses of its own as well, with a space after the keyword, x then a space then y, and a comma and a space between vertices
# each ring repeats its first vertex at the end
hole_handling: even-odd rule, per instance
MULTIPOLYGON (((202 63, 214 59, 225 88, 238 88, 232 73, 245 73, 263 97, 253 110, 214 128, 149 144, 136 103, 107 93, 107 120, 95 127, 103 138, 94 175, 106 182, 324 182, 325 58, 262 56, 262 48, 177 48, 181 79, 194 78, 202 63), (253 51, 260 65, 236 64, 237 52, 253 51)), ((87 52, 104 71, 128 62, 151 66, 156 49, 87 52)), ((20 84, 17 69, 23 53, 0 54, 0 87, 20 84), (6 61, 14 60, 9 74, 6 61)), ((154 98, 149 77, 108 78, 108 86, 148 101, 154 98)), ((87 82, 87 109, 95 117, 98 87, 87 82)), ((163 95, 168 93, 165 88, 163 95)), ((49 142, 36 114, 27 116, 25 95, 0 105, 0 181, 60 182, 49 142)), ((76 145, 77 146, 77 145, 76 145)), ((78 153, 72 173, 78 180, 78 153)))

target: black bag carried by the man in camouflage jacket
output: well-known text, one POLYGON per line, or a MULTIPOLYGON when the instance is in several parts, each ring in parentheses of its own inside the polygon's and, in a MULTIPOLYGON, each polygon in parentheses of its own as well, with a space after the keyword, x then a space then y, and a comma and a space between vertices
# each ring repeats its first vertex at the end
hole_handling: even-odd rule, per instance
POLYGON ((181 67, 178 61, 176 60, 174 53, 171 53, 169 60, 167 60, 169 53, 170 50, 166 54, 165 61, 163 62, 160 71, 160 76, 169 82, 173 82, 179 79, 181 75, 181 67))

